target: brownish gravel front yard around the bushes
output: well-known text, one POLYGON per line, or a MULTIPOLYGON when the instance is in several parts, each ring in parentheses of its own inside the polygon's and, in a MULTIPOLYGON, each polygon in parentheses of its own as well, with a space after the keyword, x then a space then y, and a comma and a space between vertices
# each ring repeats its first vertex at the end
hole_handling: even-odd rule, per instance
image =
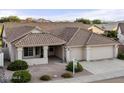
MULTIPOLYGON (((31 73, 32 75, 32 80, 30 81, 30 83, 41 83, 44 81, 39 80, 40 76, 47 74, 52 76, 52 80, 58 80, 58 79, 62 79, 61 75, 64 72, 67 72, 65 70, 65 63, 51 63, 51 64, 44 64, 44 65, 35 65, 35 66, 30 66, 28 68, 28 71, 31 73), (54 77, 54 76, 57 77, 54 77)), ((6 78, 7 79, 11 79, 12 73, 14 71, 8 71, 6 70, 6 78)), ((86 76, 86 75, 91 75, 92 73, 88 72, 87 70, 83 70, 82 72, 76 73, 75 77, 78 76, 86 76)))

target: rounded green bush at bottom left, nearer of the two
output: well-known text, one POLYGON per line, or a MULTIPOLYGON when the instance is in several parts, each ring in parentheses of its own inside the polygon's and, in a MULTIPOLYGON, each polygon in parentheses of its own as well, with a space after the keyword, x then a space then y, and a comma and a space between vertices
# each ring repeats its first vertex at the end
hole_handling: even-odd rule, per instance
POLYGON ((31 80, 31 74, 28 71, 16 71, 12 75, 11 81, 14 83, 25 83, 31 80))

